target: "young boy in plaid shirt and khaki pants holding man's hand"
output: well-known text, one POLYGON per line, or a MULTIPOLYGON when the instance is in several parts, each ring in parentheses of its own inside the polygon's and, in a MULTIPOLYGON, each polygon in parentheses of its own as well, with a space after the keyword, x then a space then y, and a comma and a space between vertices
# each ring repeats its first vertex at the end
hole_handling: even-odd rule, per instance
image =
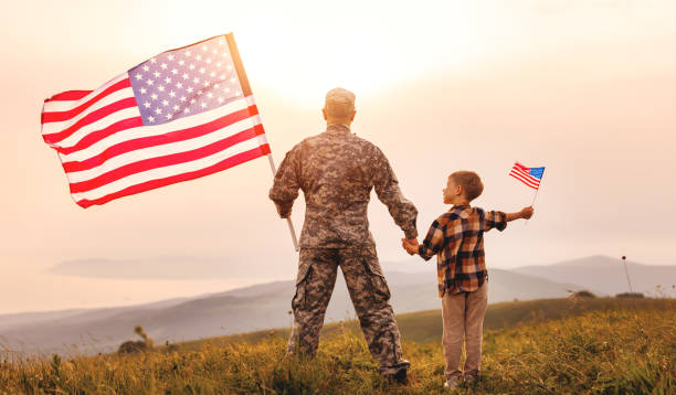
POLYGON ((442 298, 444 321, 446 388, 460 384, 463 334, 467 355, 465 381, 472 383, 479 374, 488 279, 484 261, 484 232, 494 227, 503 231, 510 221, 532 216, 532 207, 509 214, 471 207, 469 202, 483 191, 484 184, 477 173, 452 173, 443 192, 444 203, 453 204, 453 207, 432 223, 423 244, 415 245, 415 242, 402 239, 403 247, 411 255, 419 254, 429 260, 436 254, 439 296, 442 298))

